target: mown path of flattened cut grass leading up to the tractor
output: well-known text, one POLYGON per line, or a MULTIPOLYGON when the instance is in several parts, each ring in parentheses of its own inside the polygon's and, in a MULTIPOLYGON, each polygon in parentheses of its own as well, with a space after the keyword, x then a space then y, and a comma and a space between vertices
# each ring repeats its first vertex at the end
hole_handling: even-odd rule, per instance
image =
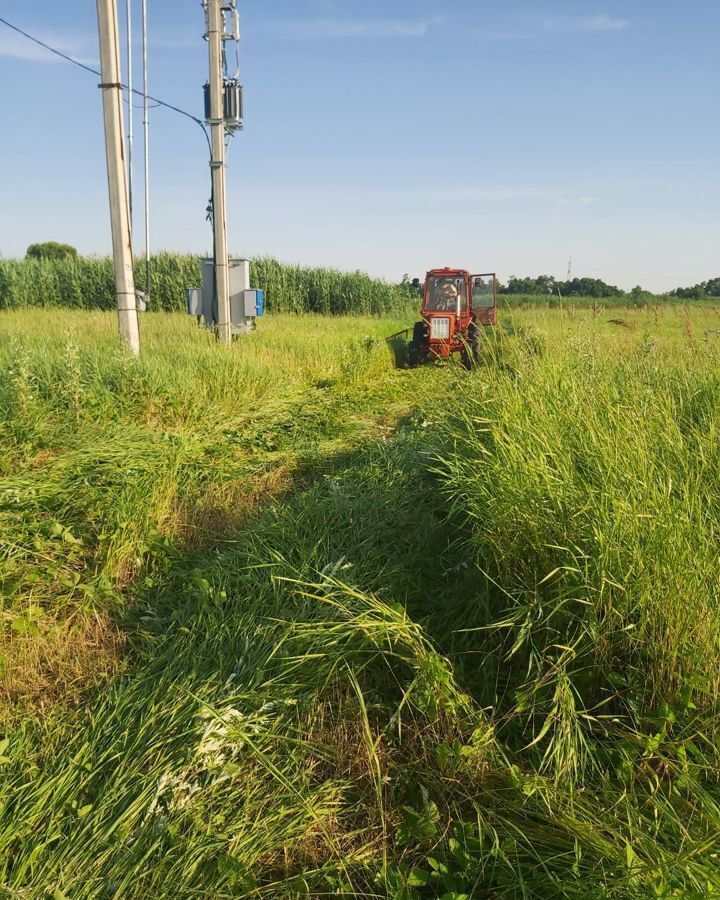
MULTIPOLYGON (((10 671, 7 889, 238 896, 264 883, 294 896, 298 873, 329 886, 362 872, 368 854, 382 858, 388 813, 363 737, 375 726, 350 685, 385 651, 373 636, 366 646, 355 612, 323 625, 327 606, 285 579, 350 576, 399 604, 422 594, 437 523, 417 502, 412 435, 424 424, 418 395, 446 378, 361 372, 260 406, 236 427, 167 430, 151 419, 150 430, 111 428, 91 447, 85 433, 5 478, 5 495, 21 498, 6 521, 27 535, 35 516, 46 535, 41 547, 16 543, 18 587, 52 582, 60 604, 62 573, 84 572, 63 588, 84 599, 75 615, 99 601, 96 618, 117 635, 104 671, 83 648, 85 684, 62 657, 41 673, 37 724, 18 718, 22 673, 10 671)), ((65 622, 87 639, 67 604, 53 624, 65 622)), ((23 635, 26 646, 47 624, 23 635)), ((375 627, 394 642, 385 613, 375 627)))

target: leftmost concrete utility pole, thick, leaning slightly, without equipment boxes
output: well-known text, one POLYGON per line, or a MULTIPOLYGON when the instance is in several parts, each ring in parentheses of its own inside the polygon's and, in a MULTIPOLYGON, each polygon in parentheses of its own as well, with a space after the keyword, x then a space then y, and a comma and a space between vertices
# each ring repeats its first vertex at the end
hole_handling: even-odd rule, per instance
POLYGON ((110 224, 112 228, 113 262, 115 264, 115 296, 117 298, 120 337, 132 353, 140 352, 135 280, 130 241, 130 210, 127 172, 123 146, 122 88, 120 85, 120 43, 116 0, 97 0, 98 35, 100 37, 100 71, 102 73, 105 151, 107 155, 110 224))

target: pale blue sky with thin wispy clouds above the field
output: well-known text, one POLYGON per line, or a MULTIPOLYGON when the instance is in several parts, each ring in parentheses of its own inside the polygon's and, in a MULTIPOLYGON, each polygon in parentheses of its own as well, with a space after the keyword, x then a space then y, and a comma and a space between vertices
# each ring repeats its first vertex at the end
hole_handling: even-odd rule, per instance
MULTIPOLYGON (((570 256, 573 274, 626 288, 720 274, 718 0, 239 6, 235 252, 388 278, 564 277, 570 256)), ((200 4, 149 7, 151 93, 201 114, 200 4)), ((0 0, 0 15, 97 59, 93 0, 0 0)), ((4 256, 50 239, 108 252, 96 84, 0 26, 4 256)), ((155 110, 151 142, 153 244, 204 252, 202 135, 155 110)))

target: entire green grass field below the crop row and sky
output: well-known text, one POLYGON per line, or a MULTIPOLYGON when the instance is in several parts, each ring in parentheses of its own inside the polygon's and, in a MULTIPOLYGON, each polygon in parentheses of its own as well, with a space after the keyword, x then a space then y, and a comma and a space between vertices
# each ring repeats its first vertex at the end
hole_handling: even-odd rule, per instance
POLYGON ((720 896, 720 310, 502 319, 2 313, 0 896, 720 896))

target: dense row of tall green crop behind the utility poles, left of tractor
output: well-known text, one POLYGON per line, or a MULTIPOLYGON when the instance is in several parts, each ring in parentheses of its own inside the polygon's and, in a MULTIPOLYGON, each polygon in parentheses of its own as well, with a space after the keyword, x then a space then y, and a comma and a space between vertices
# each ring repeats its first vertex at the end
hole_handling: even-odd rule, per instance
MULTIPOLYGON (((200 257, 159 253, 152 257, 151 310, 185 310, 185 289, 201 282, 200 257)), ((145 288, 146 263, 136 262, 138 287, 145 288)), ((265 290, 273 312, 378 315, 404 311, 416 298, 405 286, 390 285, 362 272, 307 268, 256 259, 254 287, 265 290)), ((106 258, 0 260, 0 310, 26 306, 71 309, 114 307, 112 262, 106 258)))

